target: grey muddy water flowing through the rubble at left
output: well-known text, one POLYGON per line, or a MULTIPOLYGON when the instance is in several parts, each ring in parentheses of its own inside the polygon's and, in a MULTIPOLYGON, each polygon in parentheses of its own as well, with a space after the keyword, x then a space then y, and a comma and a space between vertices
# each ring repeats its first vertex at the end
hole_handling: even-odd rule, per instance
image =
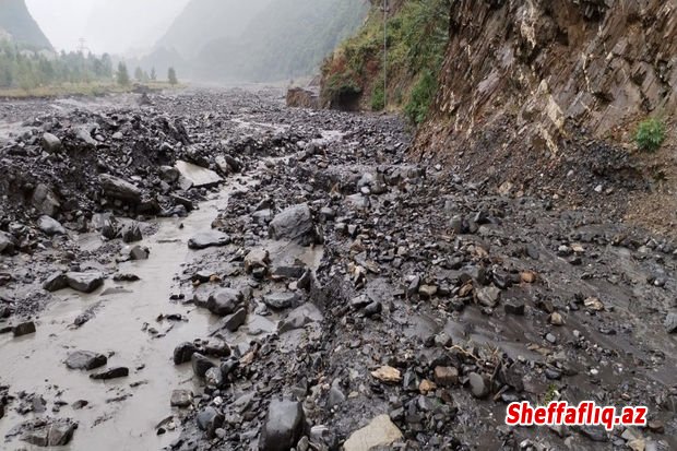
MULTIPOLYGON (((156 425, 173 414, 171 391, 193 389, 193 381, 190 365, 174 366, 173 349, 180 342, 206 336, 217 318, 193 306, 169 302, 170 295, 176 293, 174 277, 182 263, 199 254, 188 249, 188 239, 210 228, 217 210, 226 206, 233 189, 234 186, 224 188, 187 218, 158 221, 157 234, 143 242, 151 249, 151 258, 119 266, 121 273, 136 274, 141 281, 108 280, 92 295, 61 292, 61 301, 40 316, 36 334, 19 340, 8 335, 0 339, 2 360, 11 363, 3 366, 2 381, 11 387, 12 393, 25 390, 41 394, 49 415, 71 417, 80 423, 75 438, 64 449, 159 449, 175 438, 171 432, 156 436, 156 425), (179 228, 180 224, 183 228, 179 228), (109 288, 119 289, 104 295, 109 288), (95 305, 98 305, 95 318, 73 329, 75 317, 95 305), (188 321, 158 322, 161 313, 180 313, 188 321), (151 332, 153 329, 156 334, 151 332), (99 382, 91 380, 85 371, 69 370, 63 360, 75 349, 115 353, 108 359, 108 367, 129 367, 130 376, 99 382), (75 411, 70 404, 79 400, 87 401, 88 405, 75 411), (51 414, 49 411, 57 401, 69 405, 51 414), (102 447, 103 439, 105 447, 102 447)), ((15 405, 16 402, 12 407, 15 405)), ((29 417, 9 410, 0 422, 0 437, 29 417)))

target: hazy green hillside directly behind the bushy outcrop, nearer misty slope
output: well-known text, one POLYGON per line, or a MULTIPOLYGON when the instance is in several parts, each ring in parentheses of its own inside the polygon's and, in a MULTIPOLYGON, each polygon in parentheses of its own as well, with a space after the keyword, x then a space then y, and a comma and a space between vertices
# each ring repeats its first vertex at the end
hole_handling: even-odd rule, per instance
POLYGON ((211 40, 198 58, 209 80, 272 81, 308 75, 363 23, 365 0, 275 0, 237 35, 211 40))

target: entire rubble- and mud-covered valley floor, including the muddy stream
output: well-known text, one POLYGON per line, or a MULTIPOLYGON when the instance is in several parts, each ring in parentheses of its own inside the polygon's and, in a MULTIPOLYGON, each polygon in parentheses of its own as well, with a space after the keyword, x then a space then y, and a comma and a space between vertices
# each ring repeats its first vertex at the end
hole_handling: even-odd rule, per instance
POLYGON ((674 244, 282 98, 0 103, 0 449, 677 449, 674 244))

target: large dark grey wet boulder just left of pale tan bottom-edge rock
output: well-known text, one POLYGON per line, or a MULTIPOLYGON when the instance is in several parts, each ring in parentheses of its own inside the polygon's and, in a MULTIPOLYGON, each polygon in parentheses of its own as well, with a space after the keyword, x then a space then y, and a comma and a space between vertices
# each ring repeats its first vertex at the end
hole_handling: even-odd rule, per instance
POLYGON ((304 435, 304 408, 300 402, 273 400, 261 428, 259 450, 288 451, 304 435))

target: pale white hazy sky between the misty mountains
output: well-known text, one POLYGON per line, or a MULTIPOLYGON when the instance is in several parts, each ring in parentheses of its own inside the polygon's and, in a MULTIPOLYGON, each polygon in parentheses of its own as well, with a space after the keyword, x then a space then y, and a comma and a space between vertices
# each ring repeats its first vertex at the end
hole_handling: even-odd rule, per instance
POLYGON ((138 54, 155 44, 189 1, 26 0, 26 5, 59 50, 74 50, 84 38, 96 54, 138 54))

